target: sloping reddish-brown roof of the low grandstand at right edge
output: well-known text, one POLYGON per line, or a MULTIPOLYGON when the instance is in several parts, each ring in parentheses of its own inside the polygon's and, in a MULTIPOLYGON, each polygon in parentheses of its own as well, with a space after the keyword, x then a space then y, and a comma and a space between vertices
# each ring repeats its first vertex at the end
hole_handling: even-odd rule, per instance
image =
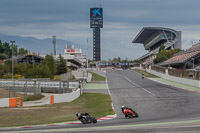
POLYGON ((200 55, 200 44, 193 45, 191 48, 175 54, 173 57, 164 61, 160 65, 166 66, 166 65, 184 63, 197 55, 200 55))

